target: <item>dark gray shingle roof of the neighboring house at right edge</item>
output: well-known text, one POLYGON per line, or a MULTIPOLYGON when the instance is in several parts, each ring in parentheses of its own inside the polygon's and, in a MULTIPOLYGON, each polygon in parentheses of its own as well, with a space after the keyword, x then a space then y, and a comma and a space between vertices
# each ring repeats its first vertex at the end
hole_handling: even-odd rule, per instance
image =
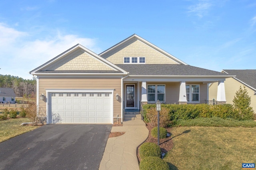
POLYGON ((256 89, 256 70, 223 70, 230 75, 236 75, 236 79, 256 89))

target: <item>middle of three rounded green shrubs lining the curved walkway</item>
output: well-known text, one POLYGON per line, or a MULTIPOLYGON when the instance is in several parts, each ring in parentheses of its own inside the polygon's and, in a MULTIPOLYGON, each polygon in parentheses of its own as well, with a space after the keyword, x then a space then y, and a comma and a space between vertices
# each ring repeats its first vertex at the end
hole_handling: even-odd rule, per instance
POLYGON ((142 160, 143 160, 143 158, 145 158, 147 156, 156 156, 156 157, 160 158, 161 157, 161 149, 155 143, 150 143, 150 142, 143 143, 140 146, 139 155, 142 160))

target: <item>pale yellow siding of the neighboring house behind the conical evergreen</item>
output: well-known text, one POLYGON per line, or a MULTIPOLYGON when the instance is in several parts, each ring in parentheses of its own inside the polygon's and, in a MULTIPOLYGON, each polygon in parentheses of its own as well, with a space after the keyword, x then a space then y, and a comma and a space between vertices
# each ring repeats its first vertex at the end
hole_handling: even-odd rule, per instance
MULTIPOLYGON (((233 104, 234 96, 236 96, 236 91, 239 90, 240 86, 242 88, 244 85, 238 82, 234 78, 227 78, 225 81, 225 93, 226 93, 226 100, 227 104, 233 104)), ((246 87, 248 95, 251 97, 251 107, 254 109, 254 113, 256 111, 256 95, 254 95, 254 90, 246 87)))

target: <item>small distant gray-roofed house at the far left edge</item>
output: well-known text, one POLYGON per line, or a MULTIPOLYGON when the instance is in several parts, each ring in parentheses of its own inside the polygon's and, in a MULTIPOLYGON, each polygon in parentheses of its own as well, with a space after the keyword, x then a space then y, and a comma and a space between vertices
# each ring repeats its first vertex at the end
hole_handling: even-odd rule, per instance
POLYGON ((0 103, 15 103, 15 93, 12 88, 0 88, 0 103))

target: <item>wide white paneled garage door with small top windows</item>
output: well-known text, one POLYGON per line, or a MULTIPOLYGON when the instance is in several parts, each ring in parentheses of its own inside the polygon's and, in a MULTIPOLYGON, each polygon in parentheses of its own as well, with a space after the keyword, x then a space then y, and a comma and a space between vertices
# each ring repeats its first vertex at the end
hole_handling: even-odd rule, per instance
POLYGON ((50 93, 49 123, 111 123, 112 93, 50 93))

